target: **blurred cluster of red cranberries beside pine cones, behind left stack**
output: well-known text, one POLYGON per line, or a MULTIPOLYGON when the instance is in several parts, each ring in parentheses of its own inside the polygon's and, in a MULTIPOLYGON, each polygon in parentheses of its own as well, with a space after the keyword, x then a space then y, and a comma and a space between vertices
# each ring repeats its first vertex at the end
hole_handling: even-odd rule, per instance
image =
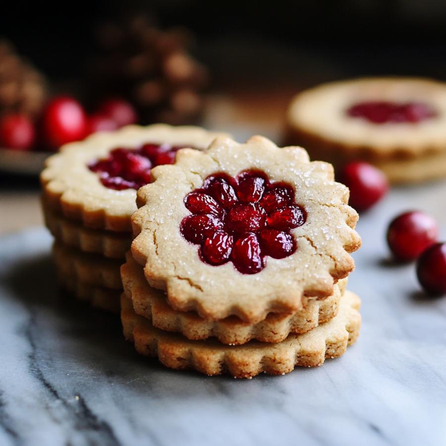
POLYGON ((57 150, 63 144, 82 140, 97 131, 115 130, 136 121, 132 105, 121 99, 108 99, 88 115, 74 98, 59 96, 48 103, 37 126, 24 114, 3 116, 0 147, 22 151, 57 150))

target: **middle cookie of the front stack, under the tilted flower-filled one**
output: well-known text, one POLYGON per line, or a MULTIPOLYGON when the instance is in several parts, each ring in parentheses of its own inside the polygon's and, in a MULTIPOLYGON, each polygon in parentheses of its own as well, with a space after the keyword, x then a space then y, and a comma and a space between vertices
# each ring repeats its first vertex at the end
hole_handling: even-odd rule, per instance
POLYGON ((223 344, 239 345, 251 339, 280 342, 290 333, 303 334, 335 317, 341 292, 347 279, 339 280, 335 292, 324 300, 306 299, 302 310, 293 314, 270 313, 264 321, 251 325, 235 316, 221 321, 200 318, 194 312, 182 313, 167 304, 165 293, 152 288, 144 271, 130 254, 121 266, 121 278, 126 296, 131 299, 135 313, 150 319, 154 327, 178 332, 188 339, 207 339, 215 336, 223 344))

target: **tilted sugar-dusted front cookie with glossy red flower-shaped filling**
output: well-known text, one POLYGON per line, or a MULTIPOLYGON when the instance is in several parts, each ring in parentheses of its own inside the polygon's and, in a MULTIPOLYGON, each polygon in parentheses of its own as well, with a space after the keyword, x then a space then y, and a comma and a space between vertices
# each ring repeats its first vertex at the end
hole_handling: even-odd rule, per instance
POLYGON ((256 324, 331 296, 354 268, 349 191, 300 147, 220 137, 152 176, 138 191, 132 254, 175 310, 256 324))

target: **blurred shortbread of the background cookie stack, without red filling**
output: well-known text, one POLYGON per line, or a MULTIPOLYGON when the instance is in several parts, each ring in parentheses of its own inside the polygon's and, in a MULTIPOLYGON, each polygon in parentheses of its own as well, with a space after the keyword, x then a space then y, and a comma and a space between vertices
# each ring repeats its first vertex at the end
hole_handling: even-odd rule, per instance
POLYGON ((392 182, 417 182, 446 174, 445 116, 443 82, 404 77, 332 82, 295 96, 287 111, 285 141, 335 167, 364 160, 384 170, 392 182), (367 101, 425 103, 437 113, 419 122, 380 124, 346 113, 367 101))

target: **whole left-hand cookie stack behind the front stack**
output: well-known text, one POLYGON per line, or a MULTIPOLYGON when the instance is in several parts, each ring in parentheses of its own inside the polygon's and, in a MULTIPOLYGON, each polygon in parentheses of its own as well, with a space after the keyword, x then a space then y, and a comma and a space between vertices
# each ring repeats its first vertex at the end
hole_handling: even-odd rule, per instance
POLYGON ((41 174, 45 222, 56 241, 60 283, 93 306, 118 312, 119 268, 131 243, 136 189, 182 147, 205 149, 218 134, 198 127, 128 126, 68 144, 41 174))

